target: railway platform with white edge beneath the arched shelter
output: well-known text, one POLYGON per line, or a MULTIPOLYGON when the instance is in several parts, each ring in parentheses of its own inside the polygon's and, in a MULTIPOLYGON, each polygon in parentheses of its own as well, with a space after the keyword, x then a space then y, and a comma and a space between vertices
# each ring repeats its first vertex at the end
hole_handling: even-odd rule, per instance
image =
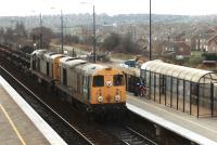
POLYGON ((190 141, 203 145, 217 145, 217 118, 196 118, 166 107, 144 97, 128 93, 127 107, 148 120, 190 141))

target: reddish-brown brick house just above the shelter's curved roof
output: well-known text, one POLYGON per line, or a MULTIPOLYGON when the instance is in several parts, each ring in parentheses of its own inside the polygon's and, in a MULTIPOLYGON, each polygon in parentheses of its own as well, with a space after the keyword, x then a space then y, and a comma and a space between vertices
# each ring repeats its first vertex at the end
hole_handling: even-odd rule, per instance
POLYGON ((186 42, 164 41, 159 47, 162 47, 162 54, 165 56, 173 55, 180 60, 191 55, 191 48, 186 42))

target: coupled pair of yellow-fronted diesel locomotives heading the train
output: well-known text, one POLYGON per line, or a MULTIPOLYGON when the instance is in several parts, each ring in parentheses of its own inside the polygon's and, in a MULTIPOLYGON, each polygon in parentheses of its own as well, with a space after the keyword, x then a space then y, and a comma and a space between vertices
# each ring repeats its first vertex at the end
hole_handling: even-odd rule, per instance
POLYGON ((99 113, 126 107, 126 81, 122 70, 84 60, 37 50, 30 56, 30 70, 37 78, 53 83, 71 103, 99 113))

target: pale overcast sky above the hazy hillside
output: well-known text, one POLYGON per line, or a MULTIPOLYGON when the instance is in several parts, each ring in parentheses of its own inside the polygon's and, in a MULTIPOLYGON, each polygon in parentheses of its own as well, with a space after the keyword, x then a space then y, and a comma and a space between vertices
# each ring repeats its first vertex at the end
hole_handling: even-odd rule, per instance
MULTIPOLYGON (((0 0, 0 16, 63 13, 114 14, 149 13, 150 0, 0 0), (86 2, 86 4, 81 4, 86 2), (89 4, 87 4, 89 3, 89 4), (51 9, 55 8, 55 9, 51 9)), ((217 0, 152 0, 155 14, 206 15, 217 14, 217 0)))

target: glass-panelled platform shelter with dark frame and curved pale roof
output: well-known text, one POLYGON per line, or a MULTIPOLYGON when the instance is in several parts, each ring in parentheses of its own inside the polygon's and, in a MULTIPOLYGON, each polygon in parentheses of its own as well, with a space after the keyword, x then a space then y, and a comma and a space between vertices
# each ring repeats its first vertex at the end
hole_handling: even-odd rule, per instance
POLYGON ((141 66, 148 98, 183 113, 217 116, 217 74, 155 60, 141 66))

